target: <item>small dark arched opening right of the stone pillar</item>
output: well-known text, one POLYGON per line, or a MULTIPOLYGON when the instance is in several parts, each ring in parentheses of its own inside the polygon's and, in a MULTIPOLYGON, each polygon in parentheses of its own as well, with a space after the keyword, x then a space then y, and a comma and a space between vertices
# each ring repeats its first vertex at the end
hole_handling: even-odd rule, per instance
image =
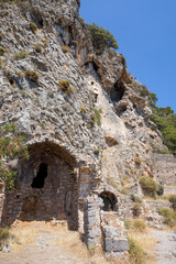
POLYGON ((117 207, 117 197, 114 194, 110 193, 110 191, 102 191, 99 197, 102 199, 103 201, 103 207, 101 208, 103 211, 117 211, 118 207, 117 207))

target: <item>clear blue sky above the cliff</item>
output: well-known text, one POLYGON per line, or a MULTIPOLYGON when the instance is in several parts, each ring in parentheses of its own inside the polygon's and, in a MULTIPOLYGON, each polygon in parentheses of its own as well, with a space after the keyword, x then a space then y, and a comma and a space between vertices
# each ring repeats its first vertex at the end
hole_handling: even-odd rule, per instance
POLYGON ((131 74, 176 112, 176 0, 81 0, 79 12, 114 35, 131 74))

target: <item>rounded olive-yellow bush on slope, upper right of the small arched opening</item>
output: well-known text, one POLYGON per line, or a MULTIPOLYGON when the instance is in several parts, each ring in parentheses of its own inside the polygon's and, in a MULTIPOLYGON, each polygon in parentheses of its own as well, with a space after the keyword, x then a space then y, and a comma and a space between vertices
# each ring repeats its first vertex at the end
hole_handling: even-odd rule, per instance
POLYGON ((141 187, 146 196, 154 197, 158 189, 157 183, 150 177, 141 177, 140 178, 141 187))

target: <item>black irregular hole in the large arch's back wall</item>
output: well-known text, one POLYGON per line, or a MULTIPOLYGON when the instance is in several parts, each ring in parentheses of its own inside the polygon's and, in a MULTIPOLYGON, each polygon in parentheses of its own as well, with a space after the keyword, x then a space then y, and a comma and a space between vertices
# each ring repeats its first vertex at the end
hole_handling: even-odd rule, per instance
POLYGON ((31 187, 38 189, 43 188, 46 177, 47 177, 47 164, 41 163, 40 169, 36 174, 36 177, 33 178, 31 187))

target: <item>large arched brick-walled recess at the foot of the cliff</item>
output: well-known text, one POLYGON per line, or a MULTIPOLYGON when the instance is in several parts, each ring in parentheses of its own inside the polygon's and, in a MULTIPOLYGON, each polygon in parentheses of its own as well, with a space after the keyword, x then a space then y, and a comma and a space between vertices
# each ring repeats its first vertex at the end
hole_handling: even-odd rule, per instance
POLYGON ((3 221, 67 220, 76 230, 76 160, 63 147, 50 142, 29 147, 30 160, 20 162, 19 188, 7 191, 3 221))

